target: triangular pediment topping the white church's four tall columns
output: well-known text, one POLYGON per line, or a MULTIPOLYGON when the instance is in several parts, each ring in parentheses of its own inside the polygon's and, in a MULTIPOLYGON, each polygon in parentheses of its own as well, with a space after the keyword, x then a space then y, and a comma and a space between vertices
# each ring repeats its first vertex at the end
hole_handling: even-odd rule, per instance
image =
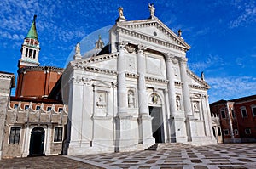
MULTIPOLYGON (((182 37, 178 37, 171 29, 163 24, 157 18, 148 20, 135 20, 125 21, 118 24, 120 29, 125 29, 125 33, 133 34, 129 31, 137 32, 142 36, 146 36, 146 39, 159 40, 160 42, 168 42, 172 45, 176 45, 184 50, 189 50, 190 46, 184 42, 182 37)), ((138 35, 137 37, 141 37, 138 35)), ((156 41, 155 41, 156 42, 156 41)))

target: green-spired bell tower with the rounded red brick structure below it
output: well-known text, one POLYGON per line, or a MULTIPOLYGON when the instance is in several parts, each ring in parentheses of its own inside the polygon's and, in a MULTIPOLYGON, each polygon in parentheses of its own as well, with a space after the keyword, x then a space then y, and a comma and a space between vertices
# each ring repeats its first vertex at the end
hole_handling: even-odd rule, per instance
POLYGON ((39 42, 34 15, 32 25, 21 45, 18 61, 16 97, 47 99, 63 69, 53 66, 39 66, 39 42))

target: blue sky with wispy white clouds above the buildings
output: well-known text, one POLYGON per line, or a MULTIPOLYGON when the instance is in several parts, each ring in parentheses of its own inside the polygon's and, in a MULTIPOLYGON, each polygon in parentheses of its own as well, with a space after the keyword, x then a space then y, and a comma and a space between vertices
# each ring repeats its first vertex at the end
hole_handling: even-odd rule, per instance
MULTIPOLYGON (((118 8, 127 20, 155 15, 172 31, 183 31, 191 46, 189 68, 205 72, 210 102, 256 94, 256 2, 254 0, 104 0, 0 3, 0 70, 16 73, 20 47, 38 15, 41 65, 64 67, 75 44, 91 32, 113 25, 118 8)), ((83 48, 83 47, 81 47, 83 48)))

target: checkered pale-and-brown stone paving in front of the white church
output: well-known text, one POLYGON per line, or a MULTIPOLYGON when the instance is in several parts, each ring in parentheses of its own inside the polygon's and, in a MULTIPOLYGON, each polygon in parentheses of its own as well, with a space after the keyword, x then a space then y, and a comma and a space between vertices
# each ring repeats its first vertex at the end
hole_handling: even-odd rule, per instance
POLYGON ((256 169, 256 144, 160 144, 157 151, 67 157, 103 168, 256 169))

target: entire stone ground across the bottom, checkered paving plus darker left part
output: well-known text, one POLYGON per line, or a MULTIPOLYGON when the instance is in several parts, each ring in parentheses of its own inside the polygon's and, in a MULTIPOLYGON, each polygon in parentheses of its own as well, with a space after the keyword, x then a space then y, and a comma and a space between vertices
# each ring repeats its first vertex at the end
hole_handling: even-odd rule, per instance
POLYGON ((256 169, 256 144, 159 144, 157 151, 3 159, 0 168, 256 169))

